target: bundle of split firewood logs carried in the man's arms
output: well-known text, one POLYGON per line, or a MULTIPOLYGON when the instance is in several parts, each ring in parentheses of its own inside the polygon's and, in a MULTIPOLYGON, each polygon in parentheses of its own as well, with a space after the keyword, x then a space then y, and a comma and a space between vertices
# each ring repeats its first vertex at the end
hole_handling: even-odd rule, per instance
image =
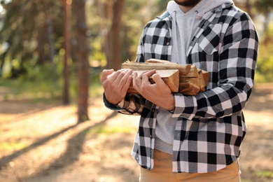
MULTIPOLYGON (((195 95, 204 92, 209 84, 209 72, 197 69, 192 64, 176 64, 160 59, 148 59, 146 62, 130 62, 122 64, 123 69, 132 69, 137 73, 155 69, 162 80, 169 86, 172 92, 181 92, 186 95, 195 95)), ((153 78, 149 78, 151 83, 155 83, 153 78)), ((135 93, 132 85, 127 90, 128 93, 135 93)))

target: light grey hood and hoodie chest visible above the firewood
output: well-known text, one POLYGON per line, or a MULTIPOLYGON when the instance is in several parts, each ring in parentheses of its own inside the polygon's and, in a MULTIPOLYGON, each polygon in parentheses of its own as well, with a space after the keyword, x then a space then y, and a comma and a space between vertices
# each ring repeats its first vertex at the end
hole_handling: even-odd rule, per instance
POLYGON ((196 6, 184 13, 179 4, 169 1, 167 11, 172 17, 172 62, 187 64, 186 50, 202 18, 207 12, 224 3, 233 3, 233 1, 201 0, 196 6))

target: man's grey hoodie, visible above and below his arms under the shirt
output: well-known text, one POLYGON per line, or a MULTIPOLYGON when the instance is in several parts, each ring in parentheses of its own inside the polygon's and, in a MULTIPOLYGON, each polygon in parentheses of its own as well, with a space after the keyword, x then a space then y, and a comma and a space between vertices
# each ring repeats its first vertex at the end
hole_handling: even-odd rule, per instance
MULTIPOLYGON (((172 16, 172 62, 187 64, 187 49, 195 30, 204 15, 210 10, 221 6, 223 3, 233 3, 232 0, 202 0, 195 7, 184 13, 174 1, 169 1, 167 10, 172 16)), ((155 149, 172 154, 174 130, 177 118, 172 118, 172 113, 159 109, 155 130, 155 149)))

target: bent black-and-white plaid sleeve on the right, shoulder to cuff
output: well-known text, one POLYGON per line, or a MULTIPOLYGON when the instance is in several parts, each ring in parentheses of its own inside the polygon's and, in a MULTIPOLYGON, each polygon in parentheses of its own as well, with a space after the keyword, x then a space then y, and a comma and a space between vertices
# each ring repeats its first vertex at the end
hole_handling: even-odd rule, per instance
POLYGON ((223 118, 241 113, 251 94, 258 52, 253 22, 242 15, 227 30, 217 60, 216 87, 196 96, 175 93, 172 117, 223 118))

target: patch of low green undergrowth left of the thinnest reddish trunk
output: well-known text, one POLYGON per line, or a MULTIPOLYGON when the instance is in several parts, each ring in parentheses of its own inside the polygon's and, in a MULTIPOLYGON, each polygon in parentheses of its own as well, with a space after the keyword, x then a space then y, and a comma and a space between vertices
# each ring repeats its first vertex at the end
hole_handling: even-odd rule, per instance
MULTIPOLYGON (((62 83, 59 73, 53 73, 52 64, 31 66, 25 64, 26 73, 17 79, 5 78, 1 85, 8 87, 6 99, 59 99, 62 95, 62 83)), ((55 68, 54 68, 55 69, 55 68)))

